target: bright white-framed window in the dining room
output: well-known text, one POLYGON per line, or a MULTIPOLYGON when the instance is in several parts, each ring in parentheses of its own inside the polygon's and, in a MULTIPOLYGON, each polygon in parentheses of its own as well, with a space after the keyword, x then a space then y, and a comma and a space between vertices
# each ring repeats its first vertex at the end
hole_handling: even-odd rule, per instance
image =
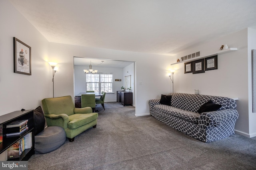
POLYGON ((86 74, 86 91, 113 92, 113 74, 98 73, 86 74))

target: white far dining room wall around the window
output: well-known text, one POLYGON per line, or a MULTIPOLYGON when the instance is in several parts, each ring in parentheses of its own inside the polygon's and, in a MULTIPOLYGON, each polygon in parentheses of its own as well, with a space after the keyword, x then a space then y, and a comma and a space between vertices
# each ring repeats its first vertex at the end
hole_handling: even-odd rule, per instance
MULTIPOLYGON (((86 76, 84 74, 84 69, 88 69, 89 66, 74 66, 74 79, 75 79, 75 95, 80 92, 86 91, 86 76)), ((123 79, 123 68, 106 68, 106 67, 96 67, 92 66, 94 70, 98 72, 113 73, 113 92, 106 93, 104 102, 116 102, 116 91, 121 90, 122 82, 115 81, 115 79, 123 79)))

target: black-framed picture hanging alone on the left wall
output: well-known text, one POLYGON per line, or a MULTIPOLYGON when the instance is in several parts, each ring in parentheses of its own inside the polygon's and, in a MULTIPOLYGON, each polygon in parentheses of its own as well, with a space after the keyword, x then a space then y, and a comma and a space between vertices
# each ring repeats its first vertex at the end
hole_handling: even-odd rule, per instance
POLYGON ((31 47, 13 37, 14 72, 31 75, 31 47))

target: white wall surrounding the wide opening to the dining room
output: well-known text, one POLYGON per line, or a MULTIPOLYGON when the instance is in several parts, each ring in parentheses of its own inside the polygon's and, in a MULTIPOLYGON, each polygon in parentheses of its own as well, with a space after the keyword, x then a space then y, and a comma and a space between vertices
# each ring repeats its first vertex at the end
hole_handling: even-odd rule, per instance
POLYGON ((170 56, 82 47, 60 43, 49 44, 50 57, 58 62, 59 66, 59 70, 54 77, 54 82, 56 82, 56 97, 64 95, 74 97, 73 56, 135 61, 135 82, 141 82, 142 84, 135 85, 136 115, 148 114, 148 100, 155 98, 160 99, 161 94, 170 92, 170 78, 167 75, 170 70, 170 56))

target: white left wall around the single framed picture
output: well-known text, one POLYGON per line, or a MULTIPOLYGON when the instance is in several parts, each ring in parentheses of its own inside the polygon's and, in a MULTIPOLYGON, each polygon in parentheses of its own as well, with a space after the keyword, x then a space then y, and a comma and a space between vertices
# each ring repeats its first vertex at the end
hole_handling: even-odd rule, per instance
POLYGON ((0 115, 35 109, 50 95, 49 43, 8 0, 0 1, 0 23, 0 115), (14 73, 13 37, 31 47, 31 76, 14 73))

